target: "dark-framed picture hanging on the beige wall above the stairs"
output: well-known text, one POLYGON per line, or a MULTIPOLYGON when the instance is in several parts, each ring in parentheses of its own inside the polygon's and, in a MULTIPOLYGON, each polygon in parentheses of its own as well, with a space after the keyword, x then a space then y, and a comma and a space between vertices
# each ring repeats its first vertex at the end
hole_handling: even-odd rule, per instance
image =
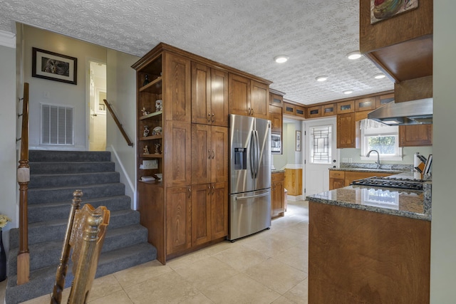
POLYGON ((77 85, 77 72, 78 58, 32 48, 32 77, 77 85))

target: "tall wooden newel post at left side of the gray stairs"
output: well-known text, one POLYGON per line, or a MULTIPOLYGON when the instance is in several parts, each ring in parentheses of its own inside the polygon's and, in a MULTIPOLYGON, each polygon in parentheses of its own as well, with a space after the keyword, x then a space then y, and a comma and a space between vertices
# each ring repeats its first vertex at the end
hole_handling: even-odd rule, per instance
MULTIPOLYGON (((30 276, 30 253, 28 252, 28 213, 27 192, 30 182, 30 167, 28 166, 28 83, 24 83, 21 124, 21 159, 17 169, 19 183, 19 252, 17 255, 17 285, 28 283, 30 276)), ((20 101, 19 100, 19 101, 20 101)))

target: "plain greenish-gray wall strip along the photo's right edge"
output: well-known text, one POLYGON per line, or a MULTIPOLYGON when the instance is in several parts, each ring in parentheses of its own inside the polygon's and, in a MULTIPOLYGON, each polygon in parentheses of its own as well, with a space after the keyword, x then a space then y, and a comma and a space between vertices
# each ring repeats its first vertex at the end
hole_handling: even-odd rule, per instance
POLYGON ((434 1, 431 303, 455 303, 456 1, 434 1))

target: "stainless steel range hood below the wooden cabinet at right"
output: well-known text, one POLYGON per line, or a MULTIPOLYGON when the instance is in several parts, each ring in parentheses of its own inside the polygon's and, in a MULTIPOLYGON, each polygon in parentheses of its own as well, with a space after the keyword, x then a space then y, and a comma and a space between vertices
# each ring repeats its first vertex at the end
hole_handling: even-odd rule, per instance
POLYGON ((385 125, 427 125, 432 124, 432 98, 388 103, 368 113, 368 119, 385 125))

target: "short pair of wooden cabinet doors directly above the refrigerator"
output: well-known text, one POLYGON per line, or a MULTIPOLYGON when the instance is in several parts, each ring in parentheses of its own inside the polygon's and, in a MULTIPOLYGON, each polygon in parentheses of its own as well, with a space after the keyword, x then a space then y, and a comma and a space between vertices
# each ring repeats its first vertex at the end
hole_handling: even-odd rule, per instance
POLYGON ((229 110, 232 114, 267 119, 269 83, 229 73, 229 110))

